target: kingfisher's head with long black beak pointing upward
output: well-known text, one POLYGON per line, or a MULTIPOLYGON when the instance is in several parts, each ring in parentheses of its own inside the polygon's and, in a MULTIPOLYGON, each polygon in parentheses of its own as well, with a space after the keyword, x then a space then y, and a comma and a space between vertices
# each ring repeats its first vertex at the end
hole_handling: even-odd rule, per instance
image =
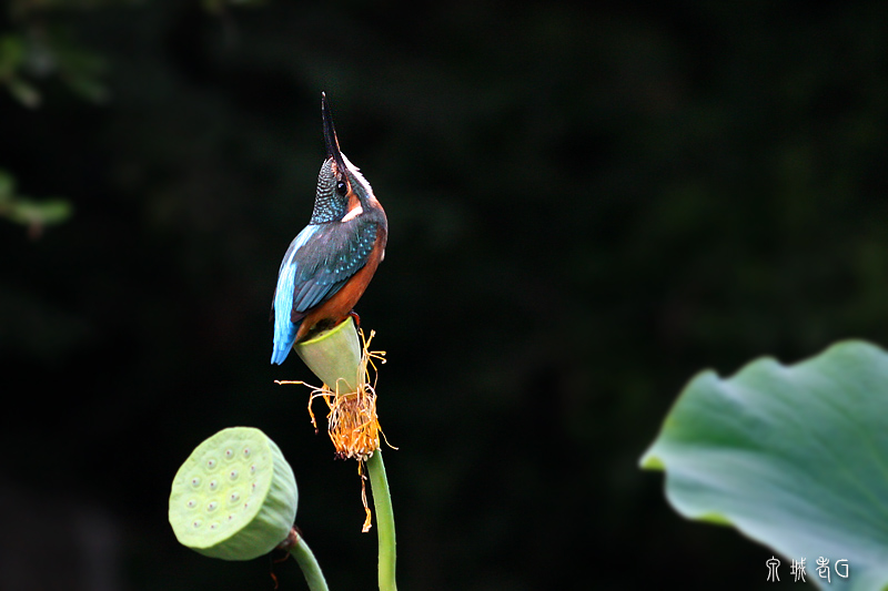
POLYGON ((321 114, 324 121, 326 160, 317 174, 317 193, 312 213, 313 224, 341 222, 350 216, 360 215, 371 206, 372 201, 375 201, 370 183, 357 166, 352 164, 340 151, 333 116, 330 113, 330 103, 323 93, 321 93, 321 114))

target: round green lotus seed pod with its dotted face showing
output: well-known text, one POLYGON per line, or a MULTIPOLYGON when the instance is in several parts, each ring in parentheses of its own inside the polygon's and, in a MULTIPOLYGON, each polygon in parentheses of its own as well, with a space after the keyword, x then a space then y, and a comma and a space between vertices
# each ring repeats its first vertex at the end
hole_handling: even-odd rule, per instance
POLYGON ((299 491, 280 448, 252 427, 222 429, 179 468, 170 493, 170 524, 192 550, 251 560, 286 539, 299 491))

